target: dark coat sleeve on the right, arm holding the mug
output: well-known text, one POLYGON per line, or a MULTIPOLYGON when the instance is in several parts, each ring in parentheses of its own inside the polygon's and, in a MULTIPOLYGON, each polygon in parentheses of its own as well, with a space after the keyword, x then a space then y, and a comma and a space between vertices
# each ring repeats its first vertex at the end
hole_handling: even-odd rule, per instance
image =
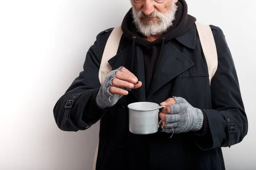
POLYGON ((214 26, 213 29, 218 68, 211 81, 212 109, 203 110, 207 116, 209 129, 206 135, 196 140, 203 150, 237 144, 247 135, 248 130, 233 58, 223 31, 214 26))

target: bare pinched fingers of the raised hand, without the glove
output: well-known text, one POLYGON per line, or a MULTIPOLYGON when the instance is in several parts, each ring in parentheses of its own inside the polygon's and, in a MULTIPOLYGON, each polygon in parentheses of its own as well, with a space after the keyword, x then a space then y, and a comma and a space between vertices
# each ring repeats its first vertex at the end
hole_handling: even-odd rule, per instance
POLYGON ((129 70, 122 67, 119 71, 115 72, 115 78, 112 79, 112 85, 109 89, 111 94, 127 95, 128 91, 123 88, 135 89, 140 88, 142 82, 138 81, 129 70))

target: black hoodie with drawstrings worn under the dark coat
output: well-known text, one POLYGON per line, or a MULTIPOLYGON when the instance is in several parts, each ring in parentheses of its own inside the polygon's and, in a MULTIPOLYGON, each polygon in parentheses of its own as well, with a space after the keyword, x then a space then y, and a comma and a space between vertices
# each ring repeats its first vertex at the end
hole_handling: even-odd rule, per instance
MULTIPOLYGON (((157 62, 161 57, 164 43, 184 34, 194 25, 196 21, 195 17, 187 14, 188 7, 185 0, 179 0, 176 4, 178 9, 175 14, 173 25, 169 27, 161 37, 153 42, 145 40, 143 35, 137 31, 137 28, 133 22, 132 9, 128 11, 122 22, 122 31, 124 36, 129 40, 133 40, 133 45, 140 45, 143 49, 146 94, 150 86, 154 70, 157 67, 157 62), (136 37, 136 39, 133 37, 136 37)), ((130 70, 132 71, 132 68, 130 70)))

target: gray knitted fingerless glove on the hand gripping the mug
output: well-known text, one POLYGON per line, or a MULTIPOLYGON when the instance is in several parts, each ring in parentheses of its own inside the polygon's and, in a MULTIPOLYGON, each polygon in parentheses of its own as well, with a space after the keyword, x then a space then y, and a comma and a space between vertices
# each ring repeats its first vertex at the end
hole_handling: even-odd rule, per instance
POLYGON ((192 107, 186 99, 173 97, 176 104, 170 105, 171 114, 166 114, 166 126, 162 126, 162 131, 167 133, 186 133, 198 131, 204 122, 204 114, 192 107))

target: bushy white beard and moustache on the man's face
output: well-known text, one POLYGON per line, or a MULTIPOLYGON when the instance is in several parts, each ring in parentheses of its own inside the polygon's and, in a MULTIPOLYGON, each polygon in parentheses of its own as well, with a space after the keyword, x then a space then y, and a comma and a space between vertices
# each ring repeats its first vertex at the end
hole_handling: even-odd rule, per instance
POLYGON ((175 13, 178 6, 175 1, 172 1, 172 10, 162 14, 161 12, 155 10, 150 15, 146 16, 142 9, 136 11, 135 6, 132 5, 132 14, 134 18, 134 23, 137 30, 143 34, 145 37, 150 37, 152 35, 159 35, 167 31, 167 28, 172 26, 172 22, 175 20, 175 13), (155 18, 158 20, 141 20, 142 18, 155 18))

